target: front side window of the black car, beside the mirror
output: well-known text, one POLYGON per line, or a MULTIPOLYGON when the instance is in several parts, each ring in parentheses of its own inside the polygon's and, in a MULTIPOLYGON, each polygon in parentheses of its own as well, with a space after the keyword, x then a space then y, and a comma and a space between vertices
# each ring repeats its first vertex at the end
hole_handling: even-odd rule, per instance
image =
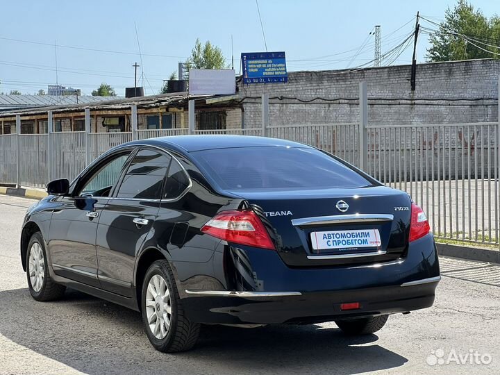
POLYGON ((108 197, 111 188, 117 183, 130 152, 119 156, 102 165, 85 183, 78 195, 89 197, 108 197))

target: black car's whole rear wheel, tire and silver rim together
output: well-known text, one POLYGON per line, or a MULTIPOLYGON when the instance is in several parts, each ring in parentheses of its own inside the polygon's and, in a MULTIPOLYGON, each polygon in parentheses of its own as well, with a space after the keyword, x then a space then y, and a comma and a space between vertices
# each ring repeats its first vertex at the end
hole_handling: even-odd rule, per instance
POLYGON ((190 322, 185 316, 174 274, 167 260, 156 260, 147 270, 142 283, 141 300, 144 328, 156 350, 174 353, 194 347, 200 324, 190 322), (160 295, 156 294, 155 297, 158 291, 160 295), (169 322, 168 328, 165 322, 169 322))

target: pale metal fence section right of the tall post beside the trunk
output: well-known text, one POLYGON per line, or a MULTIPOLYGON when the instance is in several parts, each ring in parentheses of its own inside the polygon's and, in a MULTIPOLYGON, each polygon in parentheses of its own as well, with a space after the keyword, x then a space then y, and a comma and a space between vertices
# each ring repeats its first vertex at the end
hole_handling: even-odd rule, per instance
POLYGON ((368 126, 367 172, 405 190, 437 238, 499 244, 498 123, 368 126))

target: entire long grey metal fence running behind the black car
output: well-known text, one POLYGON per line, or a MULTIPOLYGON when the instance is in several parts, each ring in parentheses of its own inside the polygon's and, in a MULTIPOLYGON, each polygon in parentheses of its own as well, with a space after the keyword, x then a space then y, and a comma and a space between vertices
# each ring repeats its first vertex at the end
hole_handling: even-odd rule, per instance
MULTIPOLYGON (((367 113, 364 103, 360 113, 367 113)), ((437 238, 500 244, 498 122, 385 126, 368 125, 364 118, 344 124, 273 126, 263 115, 260 128, 137 130, 135 124, 136 130, 128 133, 0 135, 0 183, 42 188, 51 179, 72 179, 94 158, 133 139, 266 135, 333 153, 378 181, 408 192, 426 211, 437 238)))

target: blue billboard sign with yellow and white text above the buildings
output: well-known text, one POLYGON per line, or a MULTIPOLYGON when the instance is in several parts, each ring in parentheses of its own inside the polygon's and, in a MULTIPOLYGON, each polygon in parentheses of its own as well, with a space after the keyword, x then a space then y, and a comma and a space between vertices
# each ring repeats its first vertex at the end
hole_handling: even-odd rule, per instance
POLYGON ((288 82, 285 52, 242 53, 243 83, 288 82))

